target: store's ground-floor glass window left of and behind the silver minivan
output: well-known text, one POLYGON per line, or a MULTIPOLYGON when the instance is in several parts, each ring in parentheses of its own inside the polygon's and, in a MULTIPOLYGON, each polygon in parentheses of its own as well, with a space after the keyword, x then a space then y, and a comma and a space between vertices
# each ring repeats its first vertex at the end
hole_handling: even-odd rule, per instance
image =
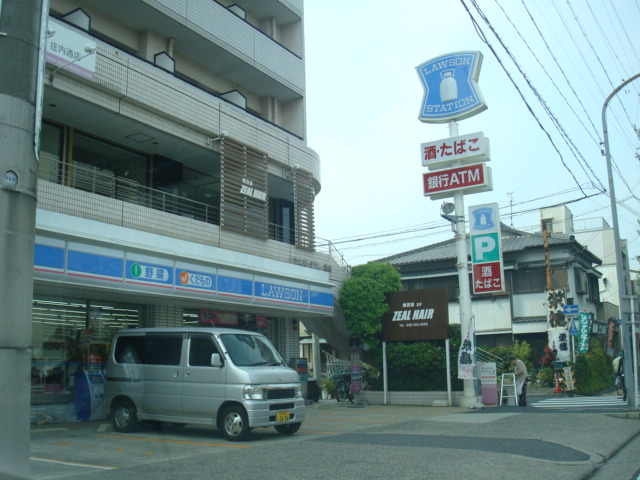
POLYGON ((120 328, 137 327, 141 314, 138 305, 35 298, 32 398, 72 393, 75 373, 102 369, 113 334, 120 328))

